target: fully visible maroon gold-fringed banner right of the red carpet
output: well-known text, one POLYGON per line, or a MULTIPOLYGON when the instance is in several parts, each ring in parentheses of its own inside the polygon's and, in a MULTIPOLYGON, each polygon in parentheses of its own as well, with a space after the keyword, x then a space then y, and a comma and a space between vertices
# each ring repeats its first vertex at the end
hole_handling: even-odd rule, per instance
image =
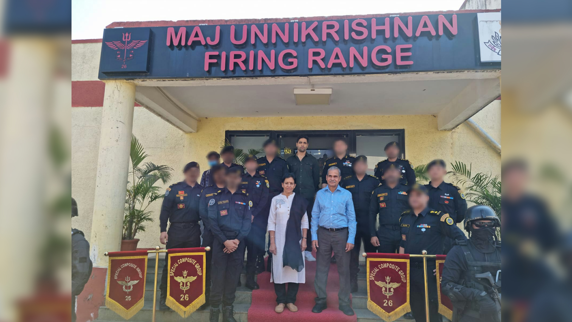
POLYGON ((411 311, 409 254, 367 253, 367 308, 387 322, 411 311))

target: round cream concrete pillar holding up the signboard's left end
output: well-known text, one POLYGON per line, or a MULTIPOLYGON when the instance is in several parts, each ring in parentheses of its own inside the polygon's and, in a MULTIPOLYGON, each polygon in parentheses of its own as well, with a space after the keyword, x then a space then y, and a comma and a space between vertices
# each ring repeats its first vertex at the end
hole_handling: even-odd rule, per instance
POLYGON ((104 253, 121 246, 135 87, 124 80, 105 82, 90 241, 95 267, 107 267, 104 253))

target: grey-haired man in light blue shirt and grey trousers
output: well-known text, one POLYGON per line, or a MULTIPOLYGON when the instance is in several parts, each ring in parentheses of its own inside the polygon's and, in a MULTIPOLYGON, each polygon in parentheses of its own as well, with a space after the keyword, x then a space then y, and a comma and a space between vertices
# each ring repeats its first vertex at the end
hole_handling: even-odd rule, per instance
POLYGON ((328 186, 319 190, 312 209, 312 249, 316 252, 316 305, 312 312, 320 313, 327 308, 325 286, 332 250, 340 276, 340 291, 337 293, 339 309, 345 315, 353 315, 349 305, 349 255, 356 235, 356 214, 352 194, 339 186, 341 171, 330 167, 326 180, 328 186))

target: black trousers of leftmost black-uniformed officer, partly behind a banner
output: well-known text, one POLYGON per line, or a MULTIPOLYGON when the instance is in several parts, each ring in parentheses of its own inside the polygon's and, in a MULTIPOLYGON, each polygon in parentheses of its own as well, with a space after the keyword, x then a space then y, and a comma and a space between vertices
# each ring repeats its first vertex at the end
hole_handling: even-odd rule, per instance
MULTIPOLYGON (((198 225, 198 223, 197 225, 188 228, 169 226, 167 235, 169 237, 167 239, 167 245, 165 246, 166 249, 190 248, 190 247, 201 246, 201 227, 198 225)), ((161 273, 161 285, 159 285, 159 289, 161 290, 160 300, 165 300, 167 298, 168 270, 169 270, 169 257, 165 256, 165 266, 163 266, 163 271, 161 273)))

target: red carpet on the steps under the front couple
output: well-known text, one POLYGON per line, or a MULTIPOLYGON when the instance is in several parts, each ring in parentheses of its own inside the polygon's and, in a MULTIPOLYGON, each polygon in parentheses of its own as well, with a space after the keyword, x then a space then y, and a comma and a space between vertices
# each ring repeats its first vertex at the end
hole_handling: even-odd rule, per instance
MULTIPOLYGON (((315 254, 314 254, 315 257, 315 254)), ((268 257, 267 257, 268 258, 268 257)), ((337 292, 340 289, 340 278, 337 274, 336 264, 329 268, 328 286, 328 308, 321 313, 312 313, 312 308, 316 304, 314 298, 314 277, 316 274, 316 262, 306 261, 306 282, 300 284, 296 297, 298 312, 290 312, 284 308, 284 312, 276 313, 276 293, 274 285, 270 282, 270 272, 258 274, 257 283, 260 289, 252 291, 252 305, 248 309, 248 322, 292 322, 292 321, 336 321, 355 322, 355 315, 344 315, 337 307, 337 292)), ((288 287, 288 286, 287 286, 288 287)))

